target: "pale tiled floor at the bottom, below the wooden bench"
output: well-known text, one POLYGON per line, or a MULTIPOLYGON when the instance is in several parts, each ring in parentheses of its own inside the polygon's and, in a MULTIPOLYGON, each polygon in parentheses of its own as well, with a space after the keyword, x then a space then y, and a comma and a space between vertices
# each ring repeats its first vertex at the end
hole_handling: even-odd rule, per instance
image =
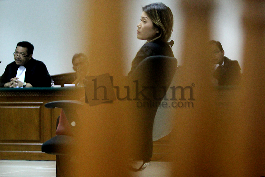
MULTIPOLYGON (((131 176, 169 177, 170 170, 170 162, 151 162, 143 171, 131 172, 131 176)), ((56 165, 55 161, 0 160, 0 177, 2 176, 56 177, 56 165)))

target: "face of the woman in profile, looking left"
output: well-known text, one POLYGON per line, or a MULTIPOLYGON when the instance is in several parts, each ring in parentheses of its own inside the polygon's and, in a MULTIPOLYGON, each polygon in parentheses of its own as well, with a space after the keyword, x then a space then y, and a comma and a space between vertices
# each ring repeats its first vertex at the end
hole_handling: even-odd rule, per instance
POLYGON ((157 33, 159 33, 157 28, 154 28, 154 24, 147 14, 143 11, 141 15, 141 21, 137 25, 137 38, 142 40, 150 41, 157 33))

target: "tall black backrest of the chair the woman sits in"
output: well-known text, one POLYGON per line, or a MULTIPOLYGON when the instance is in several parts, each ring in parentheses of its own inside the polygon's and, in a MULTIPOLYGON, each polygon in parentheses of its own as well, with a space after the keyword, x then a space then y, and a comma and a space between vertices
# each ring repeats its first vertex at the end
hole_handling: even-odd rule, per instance
POLYGON ((128 126, 130 155, 134 160, 149 160, 152 157, 154 118, 176 68, 177 60, 174 57, 151 56, 145 58, 128 77, 132 88, 130 93, 135 94, 128 110, 137 115, 132 117, 128 126))

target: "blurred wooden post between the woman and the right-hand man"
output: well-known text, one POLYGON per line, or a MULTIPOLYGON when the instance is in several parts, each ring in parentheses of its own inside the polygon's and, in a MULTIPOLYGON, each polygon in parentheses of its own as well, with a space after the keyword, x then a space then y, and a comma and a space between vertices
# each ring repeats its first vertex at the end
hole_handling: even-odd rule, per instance
POLYGON ((182 87, 192 88, 195 100, 194 108, 180 108, 175 114, 173 176, 210 177, 216 176, 218 171, 215 161, 218 134, 213 107, 214 87, 207 55, 212 6, 212 1, 182 1, 185 33, 179 80, 182 87))

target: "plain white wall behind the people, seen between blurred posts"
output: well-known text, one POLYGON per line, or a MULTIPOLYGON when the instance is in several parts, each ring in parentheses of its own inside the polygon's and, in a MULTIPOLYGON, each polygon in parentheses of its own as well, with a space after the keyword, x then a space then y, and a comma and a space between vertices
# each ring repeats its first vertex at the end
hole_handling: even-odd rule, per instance
MULTIPOLYGON (((145 41, 137 39, 137 24, 142 14, 142 6, 151 0, 124 1, 124 51, 127 72, 135 54, 145 41)), ((181 64, 182 29, 184 20, 180 0, 160 0, 171 8, 174 15, 175 41, 173 52, 181 64)), ((238 60, 242 67, 241 28, 242 4, 239 0, 217 0, 212 15, 211 39, 219 40, 225 55, 238 60)), ((50 74, 73 72, 71 59, 77 52, 87 53, 85 44, 88 32, 84 28, 82 14, 89 13, 84 3, 87 0, 0 0, 0 75, 6 65, 13 61, 12 53, 19 41, 31 42, 35 49, 33 57, 43 61, 50 74)))

